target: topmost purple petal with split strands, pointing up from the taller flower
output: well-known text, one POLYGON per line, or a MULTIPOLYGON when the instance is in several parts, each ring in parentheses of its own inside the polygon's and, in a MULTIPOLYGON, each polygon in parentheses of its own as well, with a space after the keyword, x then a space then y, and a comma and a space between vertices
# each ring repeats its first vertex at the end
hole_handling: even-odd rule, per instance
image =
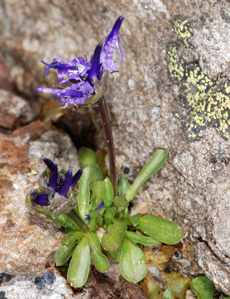
MULTIPOLYGON (((123 15, 120 15, 111 32, 109 33, 108 37, 105 39, 105 42, 103 44, 102 50, 101 50, 101 57, 100 57, 100 64, 102 64, 103 71, 108 70, 111 72, 111 65, 112 65, 112 59, 113 59, 113 52, 116 46, 116 42, 118 40, 119 36, 119 29, 121 27, 121 23, 124 19, 123 15)), ((118 43, 120 42, 120 39, 118 40, 118 43)), ((123 57, 123 51, 121 49, 121 45, 119 45, 119 49, 121 52, 121 56, 123 57)), ((121 58, 122 59, 122 58, 121 58)), ((120 64, 120 62, 119 62, 120 64)))

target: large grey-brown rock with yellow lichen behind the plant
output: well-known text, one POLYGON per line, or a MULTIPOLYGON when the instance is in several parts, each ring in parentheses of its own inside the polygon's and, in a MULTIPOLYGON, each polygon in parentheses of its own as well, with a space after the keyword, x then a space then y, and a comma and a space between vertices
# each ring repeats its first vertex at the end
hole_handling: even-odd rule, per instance
POLYGON ((227 77, 218 78, 229 74, 230 2, 8 0, 1 5, 0 52, 14 85, 27 95, 37 85, 56 83, 54 72, 44 76, 39 59, 89 56, 116 17, 125 15, 120 78, 114 85, 111 80, 106 96, 116 147, 130 156, 131 181, 155 149, 169 150, 164 168, 137 198, 183 227, 178 268, 186 274, 204 271, 230 294, 230 84, 227 77), (206 267, 212 261, 215 267, 206 267))

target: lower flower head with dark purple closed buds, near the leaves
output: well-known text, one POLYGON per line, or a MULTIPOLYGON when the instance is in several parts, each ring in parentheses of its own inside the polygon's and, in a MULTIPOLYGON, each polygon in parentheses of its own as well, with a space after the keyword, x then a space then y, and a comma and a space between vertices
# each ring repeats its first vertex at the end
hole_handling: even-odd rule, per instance
POLYGON ((76 207, 74 203, 78 194, 75 185, 81 177, 82 170, 72 176, 72 169, 65 171, 50 159, 44 158, 47 168, 38 179, 39 189, 33 190, 29 197, 33 208, 42 207, 53 211, 53 218, 61 213, 69 213, 76 207))

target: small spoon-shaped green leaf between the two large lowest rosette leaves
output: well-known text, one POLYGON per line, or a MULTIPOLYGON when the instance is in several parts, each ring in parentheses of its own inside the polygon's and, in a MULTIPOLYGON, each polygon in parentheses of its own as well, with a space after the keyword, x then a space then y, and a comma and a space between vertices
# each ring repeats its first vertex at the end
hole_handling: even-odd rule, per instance
POLYGON ((89 233, 88 236, 89 246, 92 248, 91 257, 93 263, 98 271, 106 272, 109 270, 109 261, 106 256, 101 253, 100 240, 94 233, 89 233))

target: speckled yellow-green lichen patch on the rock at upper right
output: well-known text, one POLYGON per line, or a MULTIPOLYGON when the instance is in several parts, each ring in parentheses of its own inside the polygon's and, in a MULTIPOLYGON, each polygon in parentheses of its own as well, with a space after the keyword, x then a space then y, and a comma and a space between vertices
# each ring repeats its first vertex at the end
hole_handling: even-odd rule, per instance
MULTIPOLYGON (((189 22, 176 21, 175 32, 179 39, 189 38, 189 22), (182 23, 181 23, 182 24, 182 23), (185 27, 186 26, 186 27, 185 27), (182 30, 182 28, 185 28, 182 30), (180 30, 179 30, 180 29, 180 30), (183 33, 183 34, 182 34, 183 33)), ((168 47, 170 77, 179 85, 179 97, 188 109, 186 130, 190 138, 208 126, 215 127, 222 136, 230 138, 230 81, 227 77, 210 79, 197 62, 186 62, 178 52, 179 42, 168 47)), ((187 47, 183 41, 183 47, 187 47)))

